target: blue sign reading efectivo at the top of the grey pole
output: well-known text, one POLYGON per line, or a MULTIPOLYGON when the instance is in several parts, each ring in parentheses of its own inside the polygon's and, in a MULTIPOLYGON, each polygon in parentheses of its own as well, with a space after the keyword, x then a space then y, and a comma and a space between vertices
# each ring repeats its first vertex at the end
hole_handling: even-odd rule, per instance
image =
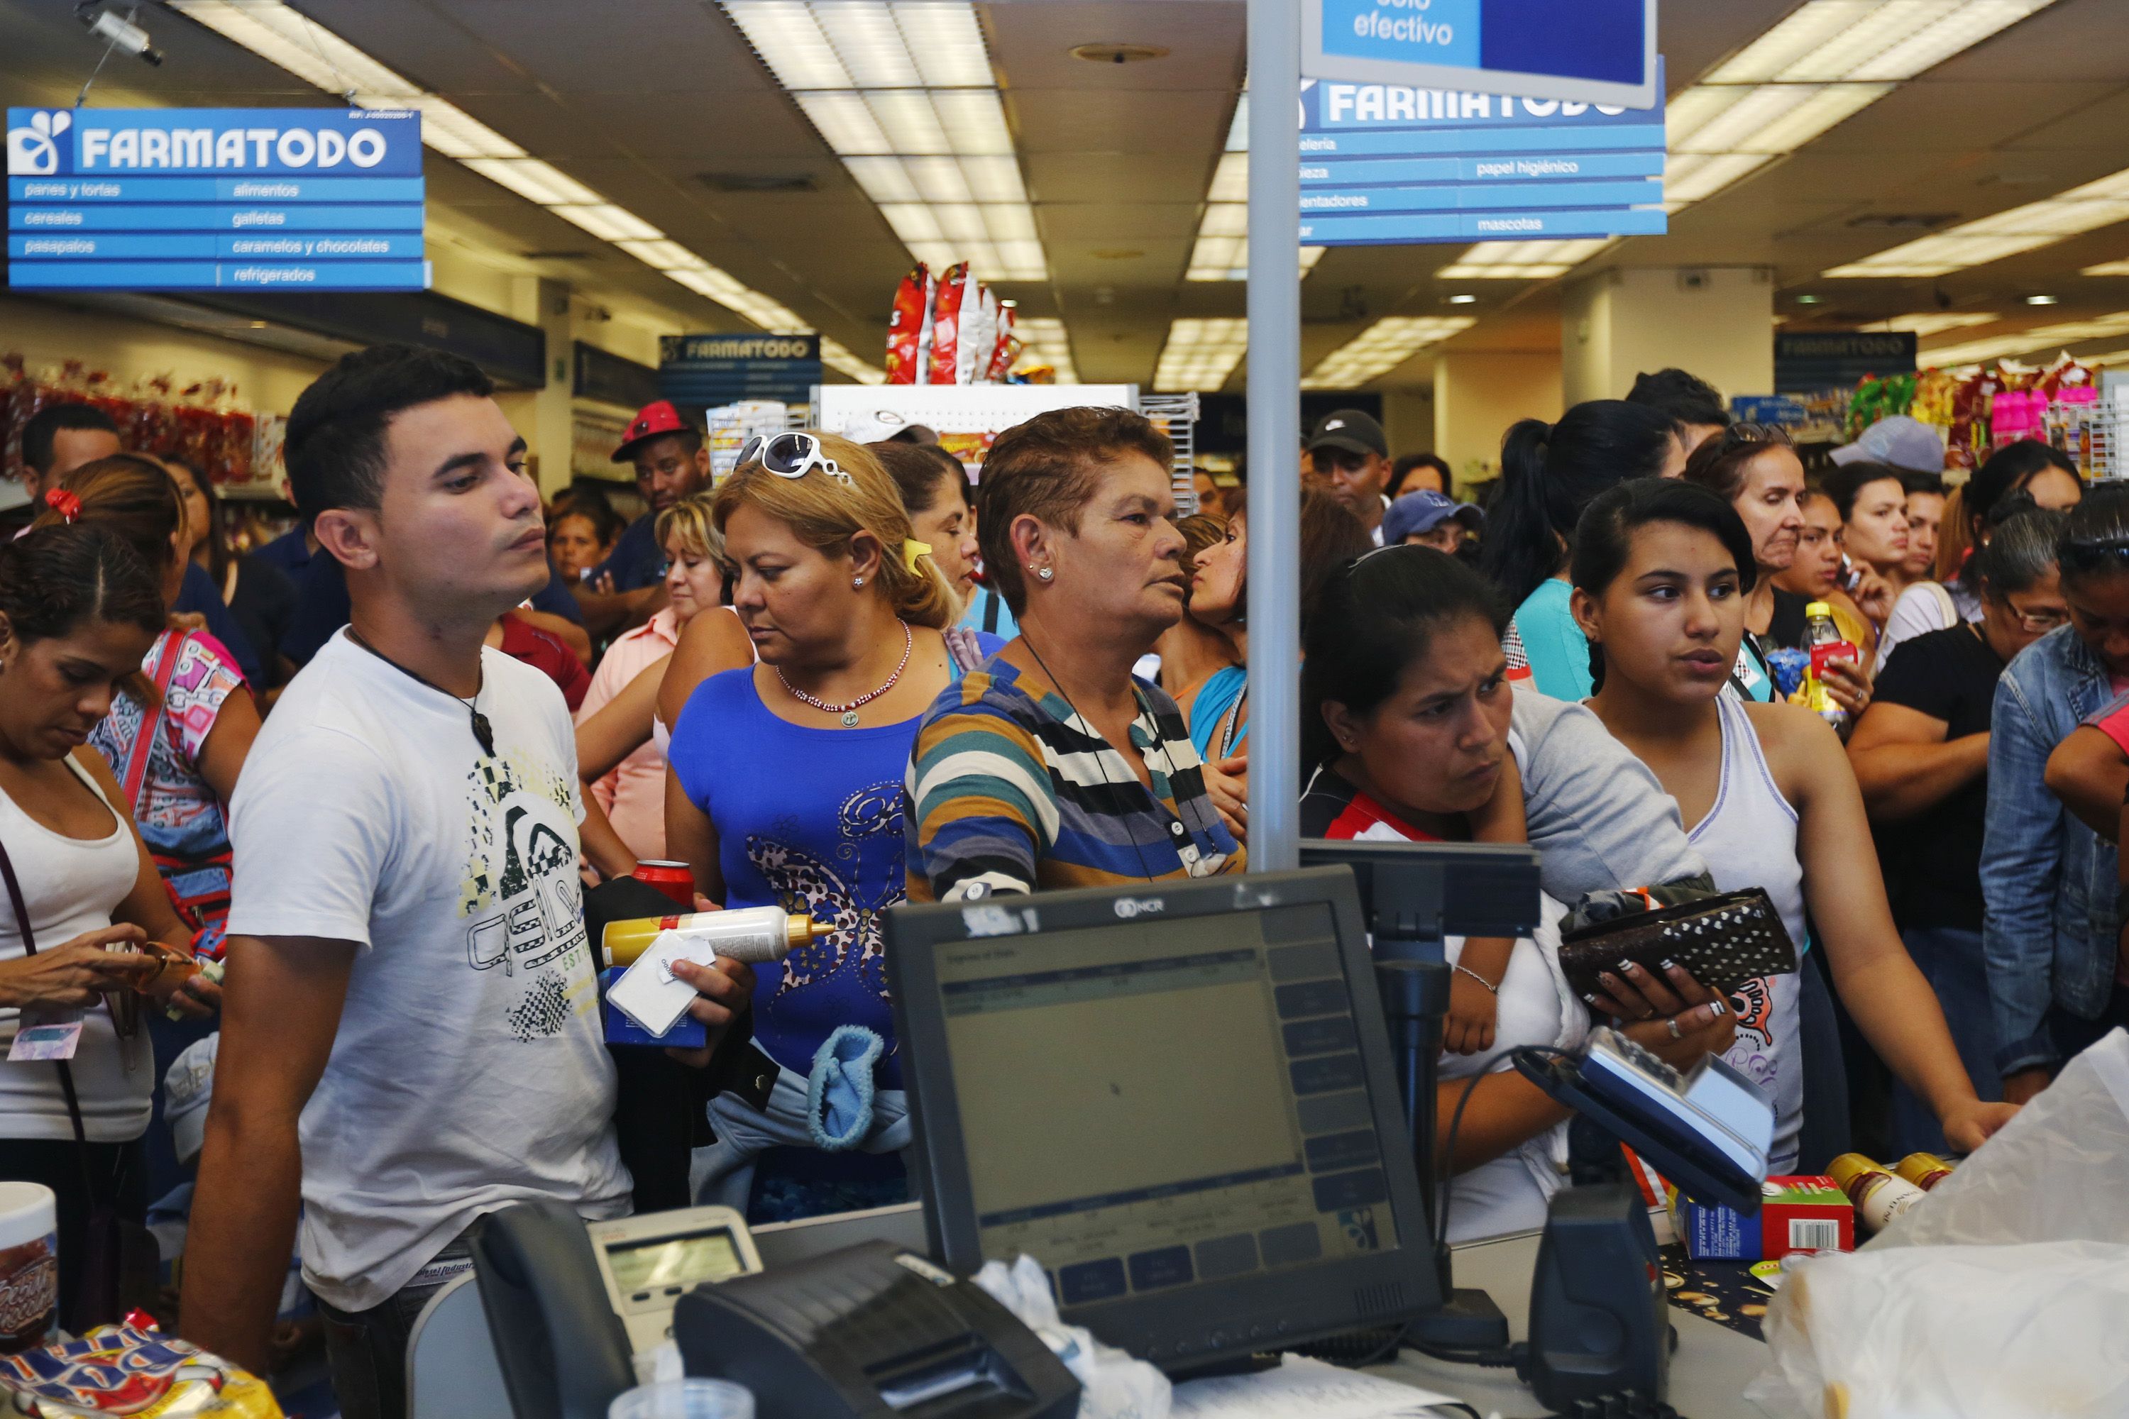
POLYGON ((1656 0, 1303 0, 1309 79, 1648 108, 1656 0))

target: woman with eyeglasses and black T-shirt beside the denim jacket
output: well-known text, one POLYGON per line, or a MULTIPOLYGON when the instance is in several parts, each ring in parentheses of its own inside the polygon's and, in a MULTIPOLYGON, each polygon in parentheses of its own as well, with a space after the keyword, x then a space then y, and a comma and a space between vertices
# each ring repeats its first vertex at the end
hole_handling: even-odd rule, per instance
MULTIPOLYGON (((2003 1098, 1982 964, 1982 825, 1997 679, 2069 611, 2054 570, 2061 513, 2020 513, 1974 560, 1982 619, 1899 647, 1848 740, 1884 866, 1893 919, 1982 1100, 2003 1098)), ((1893 1149, 1940 1153, 1944 1130, 1893 1087, 1893 1149)))

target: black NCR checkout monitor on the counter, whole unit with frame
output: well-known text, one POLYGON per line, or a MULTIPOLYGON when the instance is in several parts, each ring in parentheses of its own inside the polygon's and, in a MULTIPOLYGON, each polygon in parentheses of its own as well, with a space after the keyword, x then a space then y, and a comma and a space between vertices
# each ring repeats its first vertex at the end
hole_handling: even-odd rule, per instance
POLYGON ((896 906, 886 945, 952 1270, 1026 1253, 1169 1370, 1439 1304, 1350 872, 896 906))

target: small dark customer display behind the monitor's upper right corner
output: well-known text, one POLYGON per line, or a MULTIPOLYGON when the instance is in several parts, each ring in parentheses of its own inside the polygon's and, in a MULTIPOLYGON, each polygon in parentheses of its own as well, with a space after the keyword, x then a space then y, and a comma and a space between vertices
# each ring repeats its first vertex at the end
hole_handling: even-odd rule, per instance
POLYGON ((1392 942, 1443 936, 1529 936, 1537 928, 1537 851, 1492 842, 1373 842, 1303 838, 1301 866, 1348 866, 1377 955, 1392 942))

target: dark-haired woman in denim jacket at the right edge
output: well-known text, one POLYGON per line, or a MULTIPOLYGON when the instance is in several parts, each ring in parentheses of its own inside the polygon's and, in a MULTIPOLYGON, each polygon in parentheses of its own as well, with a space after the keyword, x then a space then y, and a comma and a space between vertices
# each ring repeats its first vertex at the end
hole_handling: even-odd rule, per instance
MULTIPOLYGON (((1997 534, 2001 536, 2001 532, 1997 534)), ((2048 791, 2048 755, 2129 694, 2129 487, 2101 483, 2063 519, 2059 625, 1997 681, 1982 834, 1982 953, 2003 1098, 2129 1025, 2120 853, 2048 791)))

